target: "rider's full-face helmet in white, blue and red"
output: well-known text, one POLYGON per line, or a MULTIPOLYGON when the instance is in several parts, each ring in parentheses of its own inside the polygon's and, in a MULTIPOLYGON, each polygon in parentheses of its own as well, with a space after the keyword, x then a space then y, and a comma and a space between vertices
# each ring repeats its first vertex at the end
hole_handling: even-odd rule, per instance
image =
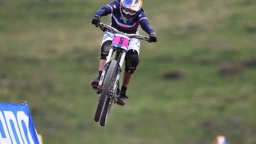
POLYGON ((130 18, 142 8, 142 0, 121 0, 120 5, 121 12, 126 18, 130 18))

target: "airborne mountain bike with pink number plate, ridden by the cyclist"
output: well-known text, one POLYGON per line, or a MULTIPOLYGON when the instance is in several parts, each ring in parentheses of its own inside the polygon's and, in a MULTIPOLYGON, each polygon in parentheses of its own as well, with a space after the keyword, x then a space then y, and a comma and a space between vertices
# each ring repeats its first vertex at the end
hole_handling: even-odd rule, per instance
POLYGON ((100 121, 100 125, 105 126, 111 107, 117 102, 117 98, 119 98, 121 67, 124 62, 124 57, 126 56, 130 39, 135 38, 149 41, 149 37, 138 34, 126 34, 103 23, 100 23, 98 27, 103 31, 108 31, 114 34, 107 61, 104 65, 103 73, 101 74, 100 82, 96 89, 96 93, 100 94, 100 98, 98 99, 98 107, 94 120, 96 122, 100 121), (115 55, 113 56, 114 53, 115 55))

